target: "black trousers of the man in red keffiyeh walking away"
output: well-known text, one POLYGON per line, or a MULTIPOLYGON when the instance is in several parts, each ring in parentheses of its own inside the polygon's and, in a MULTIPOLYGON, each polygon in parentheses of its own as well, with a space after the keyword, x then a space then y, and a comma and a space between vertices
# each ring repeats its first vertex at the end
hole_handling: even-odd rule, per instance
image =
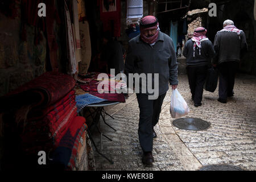
POLYGON ((195 104, 203 99, 204 82, 207 77, 208 66, 187 67, 188 83, 195 104))

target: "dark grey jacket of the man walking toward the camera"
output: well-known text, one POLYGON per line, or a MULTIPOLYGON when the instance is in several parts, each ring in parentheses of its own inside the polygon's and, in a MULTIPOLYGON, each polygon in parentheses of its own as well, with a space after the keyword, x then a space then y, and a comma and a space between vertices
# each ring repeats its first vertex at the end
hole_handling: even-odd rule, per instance
MULTIPOLYGON (((172 39, 161 31, 154 46, 143 42, 140 35, 131 39, 125 61, 127 79, 129 73, 159 73, 159 95, 168 91, 169 82, 171 85, 177 85, 177 58, 172 39)), ((132 85, 129 87, 133 88, 132 85)))

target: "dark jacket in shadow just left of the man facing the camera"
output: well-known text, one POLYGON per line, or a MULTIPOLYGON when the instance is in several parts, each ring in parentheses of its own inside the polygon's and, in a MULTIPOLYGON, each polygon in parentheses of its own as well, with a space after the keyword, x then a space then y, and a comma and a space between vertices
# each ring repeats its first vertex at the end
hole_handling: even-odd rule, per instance
POLYGON ((123 71, 125 69, 125 63, 123 62, 123 48, 121 43, 115 40, 109 40, 104 47, 101 60, 108 63, 109 73, 110 69, 115 69, 115 75, 123 71))

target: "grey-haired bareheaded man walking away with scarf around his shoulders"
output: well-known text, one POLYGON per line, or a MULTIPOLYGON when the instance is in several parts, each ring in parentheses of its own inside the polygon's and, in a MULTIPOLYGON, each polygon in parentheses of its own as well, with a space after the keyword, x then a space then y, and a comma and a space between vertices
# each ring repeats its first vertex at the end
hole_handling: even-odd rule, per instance
POLYGON ((245 33, 234 26, 232 20, 225 20, 223 27, 217 32, 214 40, 214 50, 217 54, 214 64, 220 72, 218 101, 226 103, 228 97, 234 96, 236 72, 248 48, 245 33))

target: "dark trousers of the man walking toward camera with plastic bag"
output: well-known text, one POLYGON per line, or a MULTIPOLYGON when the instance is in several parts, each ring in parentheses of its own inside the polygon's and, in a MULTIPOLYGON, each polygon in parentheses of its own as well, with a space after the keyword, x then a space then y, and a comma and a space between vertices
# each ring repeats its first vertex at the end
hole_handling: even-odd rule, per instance
POLYGON ((153 127, 158 123, 162 104, 166 93, 156 100, 148 100, 147 94, 137 93, 139 104, 139 143, 144 152, 151 152, 153 148, 153 127))

